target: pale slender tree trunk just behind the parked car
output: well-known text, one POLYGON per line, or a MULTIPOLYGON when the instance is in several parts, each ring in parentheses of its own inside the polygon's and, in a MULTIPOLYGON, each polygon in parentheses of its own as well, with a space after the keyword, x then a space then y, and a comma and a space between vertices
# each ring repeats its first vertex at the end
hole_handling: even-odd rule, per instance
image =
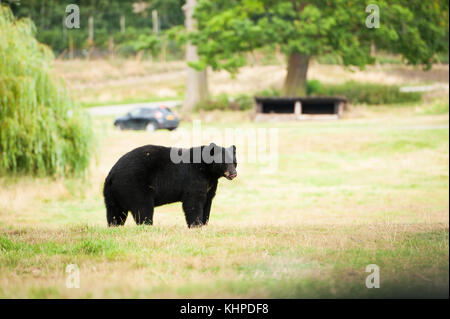
MULTIPOLYGON (((188 32, 195 30, 195 20, 192 15, 196 4, 196 0, 187 0, 186 5, 183 6, 186 15, 186 30, 188 32)), ((188 43, 186 47, 186 60, 187 62, 198 61, 197 47, 191 43, 188 43)), ((208 98, 209 93, 206 70, 199 72, 188 66, 183 112, 191 111, 197 104, 208 100, 208 98)))

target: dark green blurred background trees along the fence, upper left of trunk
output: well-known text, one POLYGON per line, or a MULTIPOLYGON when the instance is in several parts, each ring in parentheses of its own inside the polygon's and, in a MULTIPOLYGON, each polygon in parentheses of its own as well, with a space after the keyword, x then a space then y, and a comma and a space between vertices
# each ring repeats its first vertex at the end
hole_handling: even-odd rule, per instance
POLYGON ((37 28, 36 38, 49 45, 56 56, 72 48, 76 56, 82 56, 95 48, 96 54, 114 50, 121 56, 137 54, 148 49, 154 55, 163 49, 175 58, 183 58, 183 51, 177 42, 166 37, 166 31, 184 23, 182 5, 184 0, 154 1, 70 1, 80 8, 80 28, 64 27, 67 1, 62 0, 3 0, 9 4, 17 18, 28 17, 37 28), (154 34, 154 16, 158 12, 159 34, 154 34), (93 17, 94 37, 89 40, 89 17, 93 17), (164 47, 164 48, 163 48, 164 47))

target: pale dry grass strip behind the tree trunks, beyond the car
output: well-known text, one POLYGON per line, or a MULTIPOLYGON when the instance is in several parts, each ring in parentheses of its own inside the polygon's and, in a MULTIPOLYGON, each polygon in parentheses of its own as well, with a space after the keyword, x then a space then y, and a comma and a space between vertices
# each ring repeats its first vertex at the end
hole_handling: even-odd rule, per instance
MULTIPOLYGON (((70 84, 77 99, 88 105, 127 103, 153 99, 179 99, 185 92, 185 68, 182 61, 156 63, 136 60, 56 61, 55 72, 70 84)), ((212 95, 254 94, 267 88, 280 89, 286 66, 247 66, 235 78, 225 71, 209 71, 212 95)), ((312 63, 309 79, 327 84, 347 81, 392 85, 440 84, 448 95, 448 65, 436 65, 429 72, 410 66, 367 66, 364 71, 339 65, 312 63)))

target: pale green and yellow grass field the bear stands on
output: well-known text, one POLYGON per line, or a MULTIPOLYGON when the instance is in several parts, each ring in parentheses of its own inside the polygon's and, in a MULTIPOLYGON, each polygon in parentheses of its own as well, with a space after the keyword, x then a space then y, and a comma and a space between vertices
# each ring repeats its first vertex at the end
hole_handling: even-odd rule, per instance
POLYGON ((201 229, 186 227, 180 204, 157 208, 152 227, 106 227, 112 165, 173 138, 96 118, 99 152, 83 182, 0 179, 0 297, 448 298, 448 104, 435 108, 358 108, 335 122, 213 117, 203 126, 278 127, 279 163, 274 174, 239 163, 201 229), (79 289, 66 288, 68 264, 79 289), (379 289, 365 286, 369 264, 379 289))

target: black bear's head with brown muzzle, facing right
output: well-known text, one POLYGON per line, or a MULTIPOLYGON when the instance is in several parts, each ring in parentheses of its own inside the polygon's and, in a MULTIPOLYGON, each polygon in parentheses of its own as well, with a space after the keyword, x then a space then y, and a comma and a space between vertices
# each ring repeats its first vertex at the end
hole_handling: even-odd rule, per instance
POLYGON ((237 176, 236 146, 228 148, 211 143, 203 149, 203 161, 210 165, 210 171, 229 180, 237 176))

